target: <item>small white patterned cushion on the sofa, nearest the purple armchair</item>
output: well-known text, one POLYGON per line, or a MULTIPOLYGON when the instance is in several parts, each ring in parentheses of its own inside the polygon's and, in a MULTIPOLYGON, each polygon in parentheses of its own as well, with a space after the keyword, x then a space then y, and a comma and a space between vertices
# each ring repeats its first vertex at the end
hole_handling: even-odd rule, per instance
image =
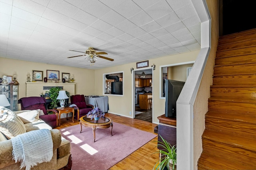
POLYGON ((39 120, 38 110, 22 110, 22 111, 14 111, 14 113, 16 113, 18 117, 20 117, 20 120, 23 123, 30 123, 30 122, 39 120))

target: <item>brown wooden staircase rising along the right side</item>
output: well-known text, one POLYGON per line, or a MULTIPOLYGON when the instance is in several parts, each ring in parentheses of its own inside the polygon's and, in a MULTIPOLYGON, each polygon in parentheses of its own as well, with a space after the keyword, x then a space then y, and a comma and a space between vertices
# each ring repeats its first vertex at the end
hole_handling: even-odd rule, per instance
POLYGON ((220 37, 198 170, 256 169, 256 29, 220 37))

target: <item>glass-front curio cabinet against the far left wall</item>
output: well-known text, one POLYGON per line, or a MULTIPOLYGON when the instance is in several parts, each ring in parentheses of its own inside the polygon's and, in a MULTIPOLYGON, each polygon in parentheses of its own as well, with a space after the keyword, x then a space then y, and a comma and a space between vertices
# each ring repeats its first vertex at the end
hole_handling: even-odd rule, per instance
POLYGON ((0 84, 0 90, 0 94, 5 94, 10 103, 10 106, 6 108, 12 111, 18 111, 18 84, 0 84))

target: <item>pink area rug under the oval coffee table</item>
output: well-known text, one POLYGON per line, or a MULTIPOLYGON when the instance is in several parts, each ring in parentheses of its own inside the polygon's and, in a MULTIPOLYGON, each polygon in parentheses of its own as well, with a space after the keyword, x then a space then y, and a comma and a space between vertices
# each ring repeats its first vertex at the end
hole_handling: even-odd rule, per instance
POLYGON ((139 149, 156 134, 113 122, 110 128, 96 129, 93 142, 92 128, 80 125, 60 129, 62 136, 71 142, 72 170, 107 170, 139 149))

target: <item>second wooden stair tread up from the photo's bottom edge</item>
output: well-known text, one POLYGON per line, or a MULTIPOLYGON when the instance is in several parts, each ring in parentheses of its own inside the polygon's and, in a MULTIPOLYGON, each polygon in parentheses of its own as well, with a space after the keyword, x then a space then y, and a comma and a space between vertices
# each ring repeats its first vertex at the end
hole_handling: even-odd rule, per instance
MULTIPOLYGON (((256 135, 254 135, 256 137, 256 135)), ((220 143, 225 143, 227 145, 232 145, 235 147, 240 147, 248 150, 253 150, 256 152, 256 139, 242 136, 242 135, 237 135, 236 133, 225 133, 222 131, 216 131, 216 130, 209 130, 206 129, 202 135, 202 139, 209 139, 211 141, 216 141, 220 143)))

